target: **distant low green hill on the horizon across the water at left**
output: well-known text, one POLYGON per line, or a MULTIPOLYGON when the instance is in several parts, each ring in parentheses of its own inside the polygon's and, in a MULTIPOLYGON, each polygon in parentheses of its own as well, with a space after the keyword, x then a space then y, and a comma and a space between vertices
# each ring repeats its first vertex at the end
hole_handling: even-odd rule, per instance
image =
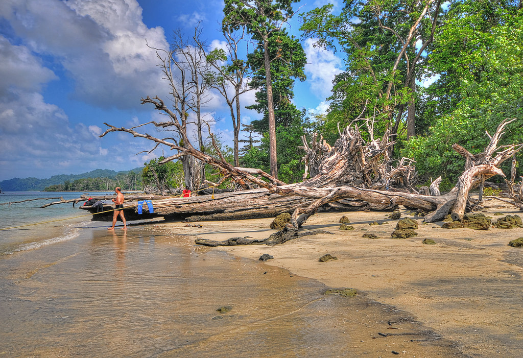
POLYGON ((38 178, 13 178, 0 181, 0 188, 2 191, 42 191, 44 188, 51 185, 63 184, 65 181, 74 181, 77 179, 87 178, 114 178, 119 174, 127 174, 130 171, 134 171, 137 174, 141 174, 143 167, 134 168, 131 170, 114 171, 109 169, 95 169, 83 174, 61 174, 53 175, 48 179, 38 178))

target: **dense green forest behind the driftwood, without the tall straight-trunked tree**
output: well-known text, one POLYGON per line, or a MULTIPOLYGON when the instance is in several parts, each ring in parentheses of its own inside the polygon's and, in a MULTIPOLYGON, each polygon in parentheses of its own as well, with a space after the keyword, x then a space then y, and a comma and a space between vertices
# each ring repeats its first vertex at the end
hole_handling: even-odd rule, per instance
MULTIPOLYGON (((309 137, 315 131, 333 145, 338 126, 343 128, 360 114, 374 120, 378 137, 384 131, 393 133, 394 157, 414 159, 420 183, 442 175, 444 189, 464 166, 452 144, 480 153, 490 141, 486 132, 494 133, 506 118, 517 120, 500 144, 523 142, 522 2, 346 0, 344 4, 340 13, 329 4, 300 15, 302 39, 314 38, 317 46, 345 58, 346 69, 335 77, 327 113, 310 117, 293 108, 292 78, 303 79, 298 65, 290 67, 283 61, 271 65, 280 179, 302 180, 303 152, 297 148, 301 135, 309 137)), ((280 42, 269 46, 275 51, 271 56, 285 55, 283 36, 275 34, 274 41, 280 42)), ((251 61, 259 61, 256 53, 251 56, 251 61)), ((261 144, 250 147, 241 164, 267 171, 263 76, 256 73, 253 82, 258 90, 253 108, 265 114, 252 123, 261 144)), ((507 173, 509 164, 503 170, 507 173)), ((522 174, 518 168, 517 175, 522 174)))

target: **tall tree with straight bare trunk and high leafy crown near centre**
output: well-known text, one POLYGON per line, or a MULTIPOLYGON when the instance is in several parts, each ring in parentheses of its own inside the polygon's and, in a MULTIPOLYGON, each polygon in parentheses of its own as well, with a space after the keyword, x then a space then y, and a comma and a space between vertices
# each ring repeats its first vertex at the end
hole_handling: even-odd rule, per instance
POLYGON ((254 40, 258 41, 263 49, 265 82, 267 89, 267 107, 269 120, 269 158, 270 175, 278 177, 278 164, 276 152, 276 124, 274 116, 274 103, 272 99, 272 78, 270 64, 281 58, 270 58, 269 38, 275 31, 280 31, 287 21, 295 15, 292 4, 298 0, 225 0, 223 9, 223 28, 231 31, 246 28, 254 40))

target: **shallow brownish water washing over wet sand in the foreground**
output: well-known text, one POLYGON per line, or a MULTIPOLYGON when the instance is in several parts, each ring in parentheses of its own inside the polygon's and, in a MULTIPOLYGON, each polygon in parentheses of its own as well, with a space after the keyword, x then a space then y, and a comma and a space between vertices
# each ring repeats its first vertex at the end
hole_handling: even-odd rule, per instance
POLYGON ((317 281, 161 225, 78 230, 0 257, 2 356, 462 356, 363 293, 325 296, 317 281))

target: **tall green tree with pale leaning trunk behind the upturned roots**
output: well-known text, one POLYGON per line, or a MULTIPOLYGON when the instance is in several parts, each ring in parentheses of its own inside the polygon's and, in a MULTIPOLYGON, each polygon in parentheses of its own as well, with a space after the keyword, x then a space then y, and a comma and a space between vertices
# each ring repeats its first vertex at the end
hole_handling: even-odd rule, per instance
POLYGON ((329 4, 302 16, 305 36, 346 53, 347 72, 336 77, 332 98, 343 117, 354 118, 367 108, 369 117, 385 120, 395 135, 408 110, 407 132, 414 134, 415 80, 425 73, 417 67, 433 41, 440 3, 346 0, 339 15, 329 4))

